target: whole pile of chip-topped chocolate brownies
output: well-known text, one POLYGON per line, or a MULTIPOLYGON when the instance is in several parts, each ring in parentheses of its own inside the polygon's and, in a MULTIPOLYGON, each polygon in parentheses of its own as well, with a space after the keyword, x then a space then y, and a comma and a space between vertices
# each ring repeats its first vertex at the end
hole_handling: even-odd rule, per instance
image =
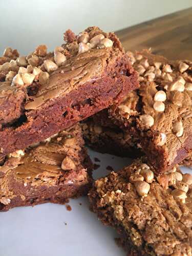
POLYGON ((64 39, 0 58, 0 210, 89 191, 128 255, 192 255, 192 176, 179 167, 192 165, 192 62, 125 53, 97 27, 64 39), (139 158, 93 183, 83 139, 139 158))

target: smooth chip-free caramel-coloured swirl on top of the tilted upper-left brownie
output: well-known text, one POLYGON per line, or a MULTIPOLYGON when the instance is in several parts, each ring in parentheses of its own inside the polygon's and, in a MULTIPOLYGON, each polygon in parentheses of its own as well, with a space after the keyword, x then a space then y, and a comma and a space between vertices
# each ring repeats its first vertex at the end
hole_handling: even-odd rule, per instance
POLYGON ((37 95, 25 105, 25 109, 35 110, 49 99, 65 95, 88 81, 98 79, 108 56, 107 50, 93 49, 70 58, 50 75, 48 83, 39 88, 37 95))

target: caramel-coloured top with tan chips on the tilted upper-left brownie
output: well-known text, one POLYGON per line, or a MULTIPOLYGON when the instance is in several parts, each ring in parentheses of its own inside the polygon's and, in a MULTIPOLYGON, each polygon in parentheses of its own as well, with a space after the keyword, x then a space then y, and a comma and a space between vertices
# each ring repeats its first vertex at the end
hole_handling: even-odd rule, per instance
MULTIPOLYGON (((7 81, 11 87, 16 86, 17 90, 32 88, 27 89, 29 97, 26 97, 26 110, 38 109, 50 99, 63 96, 83 83, 94 82, 106 73, 118 72, 115 70, 116 61, 124 52, 114 33, 90 27, 78 35, 68 30, 64 38, 66 44, 56 47, 54 53, 47 53, 47 47, 40 45, 28 56, 19 56, 0 65, 0 79, 3 82, 7 81)), ((13 52, 7 48, 4 57, 13 52)), ((4 95, 10 94, 10 90, 2 86, 0 83, 0 92, 3 90, 4 95)))

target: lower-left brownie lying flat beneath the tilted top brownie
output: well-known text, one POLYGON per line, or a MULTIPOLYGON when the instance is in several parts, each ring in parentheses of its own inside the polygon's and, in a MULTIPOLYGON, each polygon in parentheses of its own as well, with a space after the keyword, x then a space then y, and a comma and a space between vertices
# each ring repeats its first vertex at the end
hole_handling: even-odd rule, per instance
POLYGON ((7 156, 0 168, 0 210, 86 195, 92 163, 81 128, 74 125, 43 142, 7 156))

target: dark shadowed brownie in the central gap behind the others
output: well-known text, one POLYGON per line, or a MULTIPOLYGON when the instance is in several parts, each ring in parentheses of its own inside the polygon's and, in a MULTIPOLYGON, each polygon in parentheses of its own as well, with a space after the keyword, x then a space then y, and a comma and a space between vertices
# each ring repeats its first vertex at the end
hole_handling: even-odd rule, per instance
MULTIPOLYGON (((101 113, 97 117, 100 115, 101 113)), ((138 139, 131 136, 129 131, 115 125, 101 125, 95 117, 90 117, 81 123, 83 138, 89 147, 97 152, 119 157, 136 158, 144 154, 141 152, 138 139)))

